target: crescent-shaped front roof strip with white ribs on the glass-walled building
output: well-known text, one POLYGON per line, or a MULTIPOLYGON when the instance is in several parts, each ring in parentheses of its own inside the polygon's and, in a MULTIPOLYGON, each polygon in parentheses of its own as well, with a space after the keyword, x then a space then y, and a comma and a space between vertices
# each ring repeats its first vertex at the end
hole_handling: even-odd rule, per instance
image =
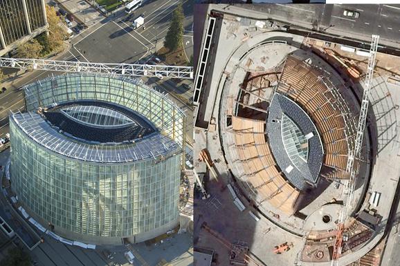
POLYGON ((50 151, 70 158, 91 162, 132 162, 168 155, 179 151, 174 140, 159 132, 154 132, 134 141, 120 144, 98 144, 81 141, 52 126, 37 113, 14 113, 10 122, 15 123, 30 139, 50 151))

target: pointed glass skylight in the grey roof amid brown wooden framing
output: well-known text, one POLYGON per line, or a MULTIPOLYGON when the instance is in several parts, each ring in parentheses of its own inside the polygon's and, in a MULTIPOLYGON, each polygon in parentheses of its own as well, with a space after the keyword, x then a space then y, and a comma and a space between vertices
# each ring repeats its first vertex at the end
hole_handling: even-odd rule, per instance
POLYGON ((282 115, 282 139, 284 149, 293 164, 298 165, 298 160, 307 162, 309 142, 298 125, 285 114, 282 115))

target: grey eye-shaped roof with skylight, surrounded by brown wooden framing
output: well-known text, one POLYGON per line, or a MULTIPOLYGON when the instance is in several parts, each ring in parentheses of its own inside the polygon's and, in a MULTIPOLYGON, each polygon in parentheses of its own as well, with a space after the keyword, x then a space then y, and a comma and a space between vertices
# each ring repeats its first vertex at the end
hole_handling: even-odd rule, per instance
POLYGON ((309 115, 296 102, 275 93, 269 106, 266 131, 273 156, 289 182, 300 190, 315 186, 323 148, 309 115))

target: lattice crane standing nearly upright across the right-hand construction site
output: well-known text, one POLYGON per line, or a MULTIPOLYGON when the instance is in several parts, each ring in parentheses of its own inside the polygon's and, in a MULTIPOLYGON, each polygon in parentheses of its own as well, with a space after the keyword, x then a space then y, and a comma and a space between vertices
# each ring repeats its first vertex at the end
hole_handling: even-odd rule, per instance
POLYGON ((371 81, 372 81, 372 76, 374 75, 376 51, 378 50, 378 41, 379 41, 379 35, 372 35, 370 55, 368 57, 367 74, 365 75, 365 81, 364 81, 363 100, 361 102, 360 116, 358 117, 356 142, 354 144, 354 151, 349 151, 349 157, 347 158, 346 171, 350 173, 350 178, 347 182, 347 187, 345 187, 343 191, 343 195, 347 194, 347 197, 345 200, 344 208, 339 213, 338 226, 334 243, 334 251, 332 253, 332 260, 331 260, 332 266, 339 265, 339 258, 340 255, 342 254, 343 231, 345 230, 345 220, 347 218, 347 212, 351 207, 354 196, 353 195, 355 186, 354 179, 356 177, 356 172, 357 172, 357 169, 354 169, 354 159, 360 157, 361 146, 363 145, 363 137, 364 137, 365 123, 367 121, 371 81))

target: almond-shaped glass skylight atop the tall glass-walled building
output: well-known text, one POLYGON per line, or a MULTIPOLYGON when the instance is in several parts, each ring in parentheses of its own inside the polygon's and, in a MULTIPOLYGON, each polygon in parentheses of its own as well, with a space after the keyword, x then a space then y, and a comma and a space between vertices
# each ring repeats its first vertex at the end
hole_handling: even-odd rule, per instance
POLYGON ((100 106, 70 106, 61 111, 71 119, 89 126, 120 127, 136 124, 126 115, 100 106))

